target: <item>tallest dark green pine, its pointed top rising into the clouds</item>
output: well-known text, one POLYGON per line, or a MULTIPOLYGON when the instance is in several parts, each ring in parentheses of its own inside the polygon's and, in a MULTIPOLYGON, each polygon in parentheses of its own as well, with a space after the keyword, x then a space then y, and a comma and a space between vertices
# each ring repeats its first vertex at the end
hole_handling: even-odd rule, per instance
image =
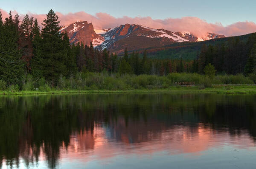
POLYGON ((38 58, 41 61, 41 65, 34 65, 34 67, 41 67, 41 71, 38 72, 41 75, 38 76, 44 76, 48 81, 52 82, 52 85, 56 84, 61 74, 66 76, 68 73, 65 65, 67 61, 67 49, 64 47, 63 35, 59 32, 59 23, 58 15, 50 10, 47 18, 42 23, 42 40, 39 47, 41 54, 38 55, 38 57, 41 57, 38 58))

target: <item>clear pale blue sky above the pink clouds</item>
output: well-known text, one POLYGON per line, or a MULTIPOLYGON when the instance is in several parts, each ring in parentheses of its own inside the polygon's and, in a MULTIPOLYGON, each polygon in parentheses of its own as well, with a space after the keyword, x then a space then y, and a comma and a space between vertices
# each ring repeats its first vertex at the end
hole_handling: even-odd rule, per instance
POLYGON ((0 0, 0 8, 46 14, 49 9, 67 14, 84 11, 105 12, 114 17, 152 17, 153 19, 199 17, 224 26, 239 21, 256 23, 255 0, 0 0))

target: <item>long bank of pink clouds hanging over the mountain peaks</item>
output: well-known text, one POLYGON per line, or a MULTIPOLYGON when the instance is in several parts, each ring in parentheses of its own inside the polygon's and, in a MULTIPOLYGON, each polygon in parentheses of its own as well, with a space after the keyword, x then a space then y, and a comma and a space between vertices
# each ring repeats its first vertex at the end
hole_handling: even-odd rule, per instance
MULTIPOLYGON (((1 10, 3 18, 8 17, 8 13, 1 10)), ((12 11, 12 14, 17 14, 17 11, 12 11)), ((61 25, 69 25, 76 21, 88 21, 93 23, 94 28, 97 29, 107 29, 113 28, 126 23, 139 24, 148 26, 151 28, 163 28, 169 31, 189 31, 198 37, 204 37, 207 32, 223 34, 225 36, 238 36, 242 34, 249 34, 256 32, 256 23, 253 22, 237 22, 231 25, 223 26, 221 23, 207 23, 198 17, 182 17, 182 18, 167 18, 164 20, 154 20, 151 17, 113 17, 106 13, 96 13, 95 15, 87 14, 84 11, 76 13, 58 14, 59 20, 61 20, 61 25)), ((22 18, 24 14, 20 14, 22 18)), ((46 14, 34 14, 29 13, 29 16, 38 19, 39 23, 42 23, 46 14)))

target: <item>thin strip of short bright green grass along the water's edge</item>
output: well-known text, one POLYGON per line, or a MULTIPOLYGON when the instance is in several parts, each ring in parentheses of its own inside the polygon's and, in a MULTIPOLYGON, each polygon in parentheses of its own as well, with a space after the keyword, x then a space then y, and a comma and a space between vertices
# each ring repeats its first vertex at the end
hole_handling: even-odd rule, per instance
POLYGON ((256 86, 213 86, 202 89, 201 86, 171 86, 165 89, 131 89, 131 90, 50 90, 50 91, 0 91, 0 95, 40 95, 61 93, 225 93, 225 94, 256 94, 256 86))

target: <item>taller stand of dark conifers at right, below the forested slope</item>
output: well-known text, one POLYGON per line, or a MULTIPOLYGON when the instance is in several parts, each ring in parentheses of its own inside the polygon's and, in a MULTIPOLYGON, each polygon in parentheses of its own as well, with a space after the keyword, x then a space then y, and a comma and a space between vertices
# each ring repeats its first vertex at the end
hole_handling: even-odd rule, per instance
POLYGON ((256 72, 256 34, 246 42, 230 37, 221 45, 203 45, 193 62, 193 72, 204 73, 207 65, 213 65, 217 73, 248 75, 256 72))

